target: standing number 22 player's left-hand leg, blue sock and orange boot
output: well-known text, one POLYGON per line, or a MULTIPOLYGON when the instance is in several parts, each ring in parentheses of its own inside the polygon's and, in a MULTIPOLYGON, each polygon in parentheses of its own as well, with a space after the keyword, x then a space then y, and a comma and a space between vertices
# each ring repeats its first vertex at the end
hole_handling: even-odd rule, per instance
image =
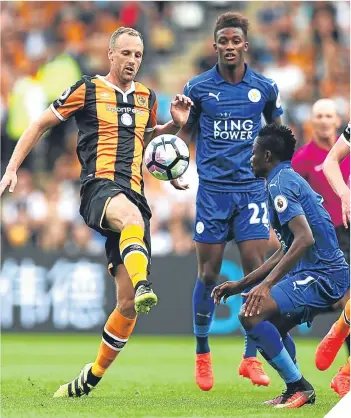
POLYGON ((196 336, 196 384, 202 390, 212 389, 214 378, 208 342, 215 305, 211 298, 221 270, 225 244, 196 242, 198 278, 193 292, 193 325, 196 336))

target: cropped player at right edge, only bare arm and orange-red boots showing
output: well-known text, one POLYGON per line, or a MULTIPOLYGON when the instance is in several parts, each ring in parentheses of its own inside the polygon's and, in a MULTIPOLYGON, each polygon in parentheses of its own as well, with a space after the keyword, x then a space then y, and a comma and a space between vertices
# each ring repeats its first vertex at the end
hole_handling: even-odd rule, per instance
MULTIPOLYGON (((330 150, 323 166, 325 176, 341 199, 342 217, 347 229, 350 224, 350 189, 343 179, 340 164, 350 154, 350 127, 351 123, 349 122, 339 140, 330 150)), ((349 335, 350 301, 346 303, 340 318, 333 324, 317 347, 315 361, 319 370, 326 370, 330 367, 349 335)), ((350 357, 334 376, 330 386, 341 398, 350 391, 350 357)))

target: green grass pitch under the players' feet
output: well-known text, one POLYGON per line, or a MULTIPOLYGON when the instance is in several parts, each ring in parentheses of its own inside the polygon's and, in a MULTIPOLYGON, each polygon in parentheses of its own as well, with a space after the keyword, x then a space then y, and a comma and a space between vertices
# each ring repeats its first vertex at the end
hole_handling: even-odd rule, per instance
POLYGON ((297 340, 299 365, 317 402, 282 411, 262 405, 283 388, 267 364, 268 388, 238 376, 242 338, 211 338, 215 386, 201 392, 194 383, 191 337, 134 336, 89 397, 53 399, 59 384, 94 361, 99 340, 98 335, 3 335, 1 416, 321 418, 338 401, 329 383, 347 358, 343 348, 330 370, 320 372, 314 366, 318 341, 297 340))

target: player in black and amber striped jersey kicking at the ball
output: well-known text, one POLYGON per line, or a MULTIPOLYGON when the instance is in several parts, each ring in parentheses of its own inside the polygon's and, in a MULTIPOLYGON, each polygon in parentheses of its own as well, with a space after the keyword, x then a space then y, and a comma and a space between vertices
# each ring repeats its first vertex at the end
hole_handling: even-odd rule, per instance
POLYGON ((137 313, 148 313, 157 303, 147 280, 151 212, 144 196, 143 150, 154 136, 176 134, 189 117, 192 101, 177 95, 171 104, 172 120, 157 125, 155 93, 134 81, 143 51, 139 32, 116 30, 108 50, 110 72, 105 77, 83 77, 54 101, 23 133, 0 182, 0 195, 8 186, 12 192, 19 166, 42 134, 75 117, 82 166, 80 213, 89 227, 107 238, 108 270, 118 297, 95 362, 60 386, 54 397, 87 395, 127 343, 137 313))

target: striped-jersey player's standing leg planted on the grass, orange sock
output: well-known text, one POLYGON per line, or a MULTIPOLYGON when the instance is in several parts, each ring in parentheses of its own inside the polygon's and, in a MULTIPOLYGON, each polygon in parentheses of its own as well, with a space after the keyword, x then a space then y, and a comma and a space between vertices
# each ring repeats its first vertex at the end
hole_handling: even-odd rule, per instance
POLYGON ((88 395, 99 383, 133 332, 136 322, 134 287, 122 264, 117 267, 115 281, 118 304, 104 326, 95 362, 85 365, 72 382, 60 386, 54 398, 76 398, 88 395))

